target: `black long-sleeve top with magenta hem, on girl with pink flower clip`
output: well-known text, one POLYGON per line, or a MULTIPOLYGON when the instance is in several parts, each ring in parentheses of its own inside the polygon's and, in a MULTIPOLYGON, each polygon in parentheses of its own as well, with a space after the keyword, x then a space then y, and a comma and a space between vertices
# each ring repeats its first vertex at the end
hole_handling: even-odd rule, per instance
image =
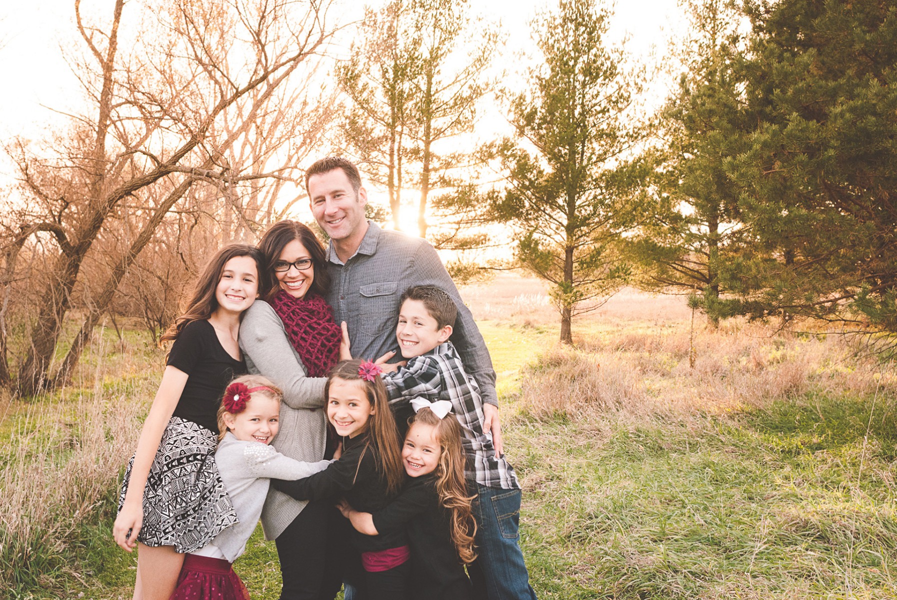
MULTIPOLYGON (((273 479, 271 483, 275 490, 296 500, 335 501, 342 497, 362 512, 383 509, 395 496, 387 492, 386 476, 380 473, 377 453, 369 440, 367 434, 343 438, 343 456, 324 471, 294 482, 273 479)), ((388 535, 364 535, 353 530, 353 543, 360 552, 377 552, 406 545, 408 536, 404 529, 388 535)))

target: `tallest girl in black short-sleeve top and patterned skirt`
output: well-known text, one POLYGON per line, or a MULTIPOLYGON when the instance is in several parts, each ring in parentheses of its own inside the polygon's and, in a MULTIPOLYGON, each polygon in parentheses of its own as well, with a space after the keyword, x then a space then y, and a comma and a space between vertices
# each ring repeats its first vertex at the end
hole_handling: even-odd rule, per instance
POLYGON ((127 465, 112 529, 127 552, 139 546, 135 600, 169 600, 185 552, 237 522, 214 461, 216 413, 225 382, 246 372, 239 324, 258 297, 262 264, 255 247, 222 248, 161 337, 173 342, 168 364, 127 465))

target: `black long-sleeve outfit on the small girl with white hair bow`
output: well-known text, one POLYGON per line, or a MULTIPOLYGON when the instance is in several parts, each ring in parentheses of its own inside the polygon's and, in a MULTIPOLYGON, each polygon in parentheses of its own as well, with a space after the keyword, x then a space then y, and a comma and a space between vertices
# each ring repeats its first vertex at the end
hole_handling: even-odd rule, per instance
POLYGON ((435 474, 409 477, 396 500, 371 516, 379 535, 403 529, 408 532, 415 597, 473 597, 470 579, 451 540, 451 517, 440 506, 435 474))

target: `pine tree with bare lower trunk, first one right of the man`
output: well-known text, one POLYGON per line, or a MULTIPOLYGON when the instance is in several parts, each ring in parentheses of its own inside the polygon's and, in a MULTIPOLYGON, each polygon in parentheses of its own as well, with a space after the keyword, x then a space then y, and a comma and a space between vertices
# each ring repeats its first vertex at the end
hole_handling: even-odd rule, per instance
POLYGON ((630 274, 619 245, 637 211, 623 159, 640 135, 630 114, 640 83, 623 69, 623 49, 605 45, 609 16, 564 0, 537 23, 544 64, 513 97, 517 138, 499 148, 508 187, 496 210, 519 230, 519 262, 553 283, 563 343, 573 317, 630 274))

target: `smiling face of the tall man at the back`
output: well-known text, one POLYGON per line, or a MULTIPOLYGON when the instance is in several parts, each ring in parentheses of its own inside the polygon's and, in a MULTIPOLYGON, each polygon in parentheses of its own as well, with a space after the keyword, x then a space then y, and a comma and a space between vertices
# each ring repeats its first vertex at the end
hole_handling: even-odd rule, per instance
POLYGON ((368 195, 363 187, 356 193, 342 169, 312 175, 309 201, 315 221, 336 241, 352 237, 365 222, 364 205, 368 204, 368 195))

